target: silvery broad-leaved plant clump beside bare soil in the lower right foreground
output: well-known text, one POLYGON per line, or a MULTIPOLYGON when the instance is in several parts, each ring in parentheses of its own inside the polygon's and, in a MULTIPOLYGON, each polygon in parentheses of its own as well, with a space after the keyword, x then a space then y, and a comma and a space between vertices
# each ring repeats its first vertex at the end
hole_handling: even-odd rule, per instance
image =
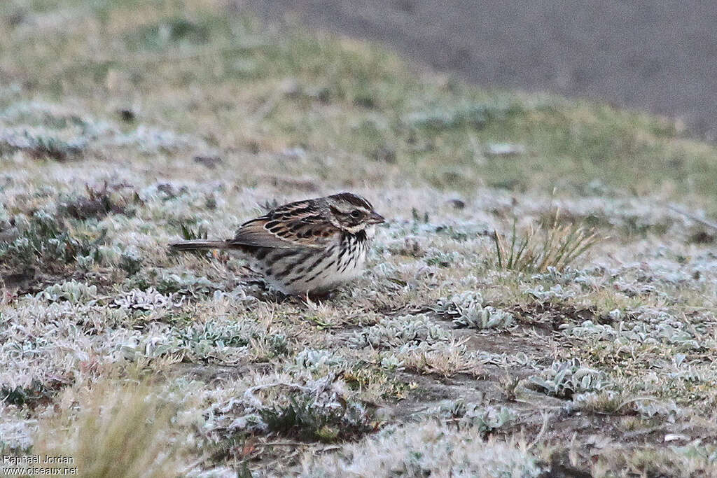
POLYGON ((576 393, 599 391, 607 386, 604 372, 582 366, 577 358, 556 361, 540 376, 528 377, 528 388, 559 398, 572 398, 576 393))

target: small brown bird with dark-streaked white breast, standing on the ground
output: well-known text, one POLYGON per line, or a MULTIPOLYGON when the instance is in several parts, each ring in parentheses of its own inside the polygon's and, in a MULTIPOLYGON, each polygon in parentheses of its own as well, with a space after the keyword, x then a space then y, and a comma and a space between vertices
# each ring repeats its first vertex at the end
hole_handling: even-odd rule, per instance
POLYGON ((338 193, 278 206, 239 226, 234 239, 169 244, 176 251, 232 249, 287 295, 321 295, 359 277, 376 224, 384 218, 369 201, 338 193))

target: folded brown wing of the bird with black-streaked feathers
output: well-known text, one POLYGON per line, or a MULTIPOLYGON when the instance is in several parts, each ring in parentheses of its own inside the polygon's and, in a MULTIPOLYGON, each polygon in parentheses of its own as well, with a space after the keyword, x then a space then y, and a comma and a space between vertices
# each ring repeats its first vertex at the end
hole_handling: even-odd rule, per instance
POLYGON ((338 232, 310 201, 298 201, 245 222, 229 244, 323 249, 338 232))

